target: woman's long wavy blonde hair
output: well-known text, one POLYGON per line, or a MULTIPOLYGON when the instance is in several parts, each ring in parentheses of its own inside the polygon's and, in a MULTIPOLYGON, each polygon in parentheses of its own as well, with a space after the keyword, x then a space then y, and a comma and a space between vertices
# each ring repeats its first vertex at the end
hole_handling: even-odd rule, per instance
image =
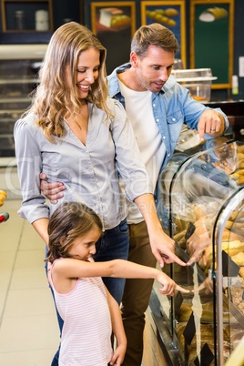
POLYGON ((76 97, 76 67, 78 56, 89 48, 99 51, 100 66, 97 80, 90 87, 86 100, 103 109, 107 117, 111 116, 107 107, 106 48, 86 26, 75 22, 61 25, 47 47, 39 71, 40 84, 30 107, 38 117, 37 126, 42 127, 51 142, 56 142, 54 137, 62 138, 66 134, 63 117, 74 117, 74 110, 81 107, 76 97), (71 87, 66 85, 67 66, 71 71, 71 87))

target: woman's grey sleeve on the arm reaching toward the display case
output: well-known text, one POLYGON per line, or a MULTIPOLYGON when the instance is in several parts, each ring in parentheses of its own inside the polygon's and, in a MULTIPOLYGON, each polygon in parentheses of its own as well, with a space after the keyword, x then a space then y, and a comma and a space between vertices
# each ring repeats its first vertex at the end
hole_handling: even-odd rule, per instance
MULTIPOLYGON (((111 100, 111 99, 110 99, 111 100)), ((146 193, 153 194, 153 187, 124 107, 114 103, 112 137, 116 147, 116 163, 119 174, 126 184, 126 195, 130 201, 146 193)))

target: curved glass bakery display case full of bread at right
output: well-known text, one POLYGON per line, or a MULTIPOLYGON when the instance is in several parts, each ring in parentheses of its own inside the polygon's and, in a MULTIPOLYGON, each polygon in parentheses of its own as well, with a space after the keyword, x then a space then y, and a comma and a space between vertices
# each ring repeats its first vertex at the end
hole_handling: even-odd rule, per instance
POLYGON ((223 365, 244 336, 244 143, 219 137, 198 149, 176 152, 158 184, 159 219, 191 263, 164 269, 189 293, 163 296, 155 282, 150 300, 172 365, 223 365))

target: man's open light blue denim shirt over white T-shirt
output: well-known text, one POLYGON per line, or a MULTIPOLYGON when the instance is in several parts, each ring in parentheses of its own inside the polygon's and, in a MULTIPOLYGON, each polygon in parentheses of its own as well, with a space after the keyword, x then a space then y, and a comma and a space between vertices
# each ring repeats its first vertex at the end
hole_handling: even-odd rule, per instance
MULTIPOLYGON (((118 66, 111 75, 107 76, 109 97, 116 98, 124 107, 126 107, 125 98, 120 92, 117 74, 123 73, 129 67, 131 67, 129 63, 118 66)), ((190 129, 198 129, 199 117, 209 108, 189 97, 188 89, 180 86, 173 76, 169 76, 159 93, 152 93, 152 107, 155 122, 166 147, 166 156, 160 169, 161 173, 166 167, 168 159, 174 153, 182 125, 188 125, 190 129)), ((215 110, 225 118, 225 130, 227 130, 229 127, 228 118, 221 109, 216 108, 215 110)), ((208 135, 205 137, 207 139, 213 138, 208 135)))

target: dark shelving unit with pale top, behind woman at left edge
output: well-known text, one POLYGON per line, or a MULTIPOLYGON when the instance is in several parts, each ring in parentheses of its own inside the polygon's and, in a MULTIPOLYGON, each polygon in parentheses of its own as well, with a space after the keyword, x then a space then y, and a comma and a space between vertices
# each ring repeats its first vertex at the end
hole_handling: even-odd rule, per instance
POLYGON ((15 157, 13 128, 31 103, 46 46, 0 46, 0 158, 15 157))

